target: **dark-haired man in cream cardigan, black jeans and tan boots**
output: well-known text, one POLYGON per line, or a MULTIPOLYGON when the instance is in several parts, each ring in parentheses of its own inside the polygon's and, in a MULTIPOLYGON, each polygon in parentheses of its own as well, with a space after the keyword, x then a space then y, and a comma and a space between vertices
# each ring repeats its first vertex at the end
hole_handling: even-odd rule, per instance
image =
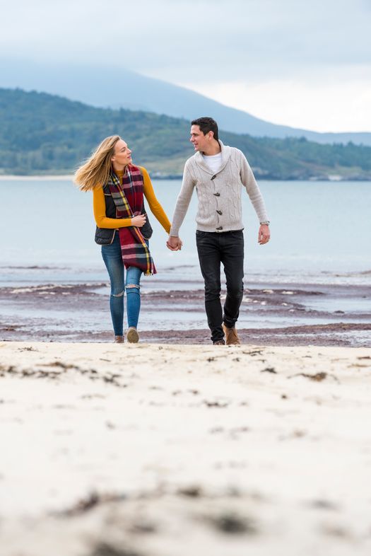
POLYGON ((244 186, 259 218, 260 245, 270 238, 269 220, 252 169, 239 149, 223 145, 211 117, 192 121, 191 143, 196 151, 184 166, 167 247, 182 248, 179 228, 194 187, 199 199, 196 245, 205 281, 205 307, 213 344, 240 344, 235 323, 243 294, 244 237, 241 189, 244 186), (227 283, 224 312, 220 303, 220 262, 227 283), (225 340, 224 340, 225 337, 225 340))

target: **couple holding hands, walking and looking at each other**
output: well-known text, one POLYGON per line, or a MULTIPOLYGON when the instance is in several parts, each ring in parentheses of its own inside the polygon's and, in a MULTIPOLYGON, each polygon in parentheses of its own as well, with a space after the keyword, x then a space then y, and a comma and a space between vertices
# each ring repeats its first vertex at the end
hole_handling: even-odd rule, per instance
POLYGON ((239 149, 223 145, 218 125, 210 117, 192 121, 190 141, 195 154, 184 166, 182 188, 172 224, 155 197, 145 168, 134 166, 131 150, 118 135, 107 137, 75 174, 83 191, 93 190, 95 242, 110 277, 110 311, 115 342, 124 342, 124 291, 128 342, 139 341, 141 274, 155 274, 149 250, 152 228, 143 196, 155 218, 169 234, 167 247, 180 250, 179 228, 187 213, 194 187, 198 197, 196 245, 205 282, 205 307, 213 344, 240 344, 235 324, 243 294, 244 237, 241 192, 246 188, 259 219, 258 241, 269 241, 269 221, 252 169, 239 149), (220 303, 220 264, 227 296, 220 303), (124 279, 124 269, 126 279, 124 279))

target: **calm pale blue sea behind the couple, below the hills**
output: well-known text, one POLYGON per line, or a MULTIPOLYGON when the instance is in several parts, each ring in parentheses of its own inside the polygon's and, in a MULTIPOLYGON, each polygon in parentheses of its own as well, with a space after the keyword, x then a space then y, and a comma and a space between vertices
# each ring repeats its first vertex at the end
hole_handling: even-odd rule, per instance
MULTIPOLYGON (((156 195, 171 219, 180 180, 155 180, 156 195)), ((257 217, 243 195, 245 282, 371 284, 371 183, 259 183, 271 219, 271 242, 258 245, 257 217)), ((71 180, 0 180, 1 285, 107 280, 93 237, 92 195, 71 180), (35 268, 32 268, 35 267, 35 268)), ((194 239, 196 192, 172 253, 151 216, 153 278, 178 284, 201 279, 194 239)))

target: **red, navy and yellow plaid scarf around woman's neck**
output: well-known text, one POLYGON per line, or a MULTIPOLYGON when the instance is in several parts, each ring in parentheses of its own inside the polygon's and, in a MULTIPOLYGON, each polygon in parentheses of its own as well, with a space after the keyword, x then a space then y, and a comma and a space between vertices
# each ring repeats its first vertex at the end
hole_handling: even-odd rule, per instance
MULTIPOLYGON (((129 164, 122 178, 122 185, 112 171, 107 185, 116 205, 117 218, 132 218, 141 214, 143 207, 143 176, 141 170, 129 164)), ((156 274, 155 264, 141 233, 141 228, 119 228, 122 260, 125 268, 139 267, 144 274, 156 274)))

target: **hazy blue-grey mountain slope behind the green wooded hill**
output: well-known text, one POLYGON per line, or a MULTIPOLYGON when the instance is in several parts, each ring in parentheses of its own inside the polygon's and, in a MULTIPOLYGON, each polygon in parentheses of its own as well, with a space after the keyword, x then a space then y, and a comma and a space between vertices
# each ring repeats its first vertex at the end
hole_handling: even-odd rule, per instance
POLYGON ((101 108, 128 108, 193 120, 212 116, 226 131, 253 137, 305 137, 317 143, 371 145, 371 133, 316 133, 260 120, 187 88, 110 66, 0 59, 0 87, 45 91, 101 108))

